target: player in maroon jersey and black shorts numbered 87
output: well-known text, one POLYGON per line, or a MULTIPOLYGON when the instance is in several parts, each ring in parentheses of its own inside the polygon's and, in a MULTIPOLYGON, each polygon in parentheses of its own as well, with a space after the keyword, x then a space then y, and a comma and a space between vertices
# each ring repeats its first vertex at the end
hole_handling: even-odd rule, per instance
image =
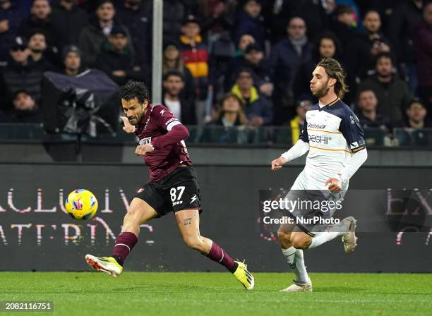
POLYGON ((144 83, 129 81, 121 87, 120 97, 126 114, 121 118, 123 129, 138 136, 135 153, 143 156, 150 180, 133 197, 112 256, 86 255, 88 265, 119 276, 124 260, 138 241, 140 225, 174 212, 184 243, 226 267, 251 290, 254 279, 244 262, 232 260, 217 243, 200 235, 200 188, 184 143, 188 129, 163 105, 150 104, 144 83))

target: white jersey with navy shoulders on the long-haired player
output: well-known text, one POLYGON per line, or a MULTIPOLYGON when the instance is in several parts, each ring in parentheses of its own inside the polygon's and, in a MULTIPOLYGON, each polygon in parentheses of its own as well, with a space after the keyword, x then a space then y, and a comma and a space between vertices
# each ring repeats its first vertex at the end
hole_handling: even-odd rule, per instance
MULTIPOLYGON (((306 112, 299 139, 308 142, 309 152, 292 190, 325 190, 325 181, 342 172, 353 152, 365 148, 359 119, 339 98, 306 112)), ((348 181, 342 183, 342 190, 347 188, 348 181)))

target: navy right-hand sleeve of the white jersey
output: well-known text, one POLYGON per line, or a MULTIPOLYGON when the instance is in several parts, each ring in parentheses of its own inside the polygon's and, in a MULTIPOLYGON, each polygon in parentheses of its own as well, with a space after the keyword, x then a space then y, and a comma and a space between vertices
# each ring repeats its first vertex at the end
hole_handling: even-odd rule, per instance
POLYGON ((366 148, 364 140, 364 131, 361 128, 359 119, 352 111, 344 111, 340 121, 340 132, 344 135, 345 140, 351 152, 358 152, 366 148))

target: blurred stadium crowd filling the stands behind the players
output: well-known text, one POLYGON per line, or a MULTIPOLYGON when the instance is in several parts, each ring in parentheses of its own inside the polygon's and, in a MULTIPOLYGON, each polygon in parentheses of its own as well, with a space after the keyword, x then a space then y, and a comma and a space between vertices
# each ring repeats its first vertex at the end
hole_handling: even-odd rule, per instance
POLYGON ((161 84, 188 125, 291 126, 314 66, 347 71, 361 125, 431 128, 432 4, 424 0, 164 0, 163 82, 151 83, 151 0, 0 0, 0 121, 41 121, 45 71, 161 84))

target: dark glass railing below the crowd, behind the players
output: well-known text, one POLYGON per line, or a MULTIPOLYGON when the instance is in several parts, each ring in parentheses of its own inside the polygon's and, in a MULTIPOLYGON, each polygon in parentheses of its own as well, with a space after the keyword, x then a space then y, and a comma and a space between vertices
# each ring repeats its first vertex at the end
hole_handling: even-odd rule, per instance
MULTIPOLYGON (((190 136, 188 145, 234 145, 234 146, 278 146, 292 145, 292 133, 289 126, 188 126, 190 136)), ((431 147, 432 128, 413 129, 395 128, 392 133, 380 128, 364 130, 366 144, 373 147, 431 147)), ((46 133, 41 124, 0 123, 1 142, 73 142, 78 135, 46 133)), ((133 135, 119 131, 115 134, 100 134, 97 137, 82 135, 81 142, 112 143, 136 142, 133 135)))

